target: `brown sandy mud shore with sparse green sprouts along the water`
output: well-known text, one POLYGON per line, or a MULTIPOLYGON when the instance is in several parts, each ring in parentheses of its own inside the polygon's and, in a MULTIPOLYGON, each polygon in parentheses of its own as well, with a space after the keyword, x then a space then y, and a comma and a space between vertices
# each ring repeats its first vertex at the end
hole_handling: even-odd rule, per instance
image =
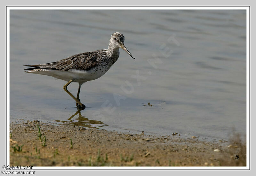
POLYGON ((246 144, 238 135, 230 141, 206 142, 179 134, 156 137, 16 122, 10 123, 10 165, 246 166, 246 144))

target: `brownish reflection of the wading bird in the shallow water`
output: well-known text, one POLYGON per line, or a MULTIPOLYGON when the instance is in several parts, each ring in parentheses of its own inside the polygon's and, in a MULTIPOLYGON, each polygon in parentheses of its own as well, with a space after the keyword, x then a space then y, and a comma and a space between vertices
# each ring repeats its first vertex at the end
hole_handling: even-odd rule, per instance
MULTIPOLYGON (((65 125, 77 125, 77 126, 87 127, 87 128, 97 128, 97 127, 93 126, 92 124, 103 124, 103 122, 101 122, 101 121, 89 120, 88 118, 82 116, 81 110, 83 110, 83 109, 77 108, 76 113, 74 115, 70 116, 68 118, 68 121, 61 121, 61 120, 54 120, 54 121, 64 123, 65 125), (77 114, 78 114, 78 118, 73 119, 73 117, 75 117, 77 114)), ((107 126, 107 125, 104 125, 104 126, 107 126)))

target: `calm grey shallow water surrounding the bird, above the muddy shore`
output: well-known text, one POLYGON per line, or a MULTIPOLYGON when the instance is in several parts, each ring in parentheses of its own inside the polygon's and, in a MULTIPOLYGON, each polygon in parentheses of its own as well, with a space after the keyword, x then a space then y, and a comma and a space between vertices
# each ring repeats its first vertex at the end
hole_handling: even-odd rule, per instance
MULTIPOLYGON (((77 88, 68 86, 74 95, 77 88)), ((227 139, 233 127, 244 135, 246 11, 11 10, 10 121, 17 119, 209 140, 227 139), (81 114, 65 81, 23 73, 23 65, 107 49, 115 31, 136 59, 120 50, 106 74, 85 83, 81 114)))

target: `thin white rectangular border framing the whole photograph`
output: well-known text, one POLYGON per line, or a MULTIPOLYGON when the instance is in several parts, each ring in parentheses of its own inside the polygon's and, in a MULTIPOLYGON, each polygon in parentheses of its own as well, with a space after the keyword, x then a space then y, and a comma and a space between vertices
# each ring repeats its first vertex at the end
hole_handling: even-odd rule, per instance
POLYGON ((249 170, 250 169, 250 7, 249 6, 7 6, 6 7, 6 165, 10 164, 10 10, 246 10, 246 151, 245 167, 90 167, 35 166, 33 170, 249 170), (7 164, 8 163, 8 164, 7 164), (53 169, 54 168, 54 169, 53 169))

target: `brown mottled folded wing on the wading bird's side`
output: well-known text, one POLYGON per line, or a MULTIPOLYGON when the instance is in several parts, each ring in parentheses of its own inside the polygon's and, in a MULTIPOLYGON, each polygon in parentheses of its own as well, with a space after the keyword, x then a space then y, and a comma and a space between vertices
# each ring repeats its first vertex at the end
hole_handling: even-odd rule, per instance
POLYGON ((57 70, 90 70, 97 66, 97 53, 80 53, 57 62, 57 70))

